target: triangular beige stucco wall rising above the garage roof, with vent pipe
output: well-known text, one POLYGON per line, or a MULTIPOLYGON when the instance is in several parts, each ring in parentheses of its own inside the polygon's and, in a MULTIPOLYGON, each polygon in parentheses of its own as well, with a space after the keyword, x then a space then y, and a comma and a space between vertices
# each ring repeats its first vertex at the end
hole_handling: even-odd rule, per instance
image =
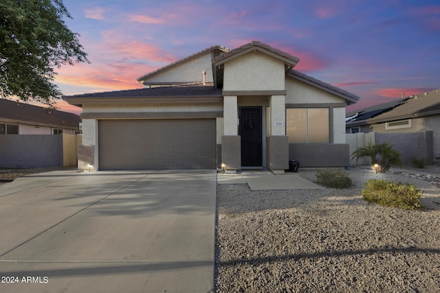
POLYGON ((202 71, 206 71, 206 82, 213 82, 211 59, 212 52, 207 52, 187 62, 175 65, 170 70, 153 75, 146 80, 146 83, 203 82, 202 71))

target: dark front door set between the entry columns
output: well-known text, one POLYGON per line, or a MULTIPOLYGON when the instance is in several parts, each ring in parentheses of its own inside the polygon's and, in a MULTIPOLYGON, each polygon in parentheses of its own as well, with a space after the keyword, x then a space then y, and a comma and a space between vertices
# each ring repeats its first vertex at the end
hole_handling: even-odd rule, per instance
POLYGON ((261 167, 263 165, 261 107, 240 107, 239 119, 241 165, 261 167))

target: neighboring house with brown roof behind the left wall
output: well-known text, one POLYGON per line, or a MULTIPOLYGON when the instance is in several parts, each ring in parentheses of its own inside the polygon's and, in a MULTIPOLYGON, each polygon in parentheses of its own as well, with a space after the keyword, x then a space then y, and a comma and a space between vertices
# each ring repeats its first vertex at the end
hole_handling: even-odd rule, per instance
POLYGON ((0 134, 76 134, 80 117, 9 99, 0 99, 0 134))

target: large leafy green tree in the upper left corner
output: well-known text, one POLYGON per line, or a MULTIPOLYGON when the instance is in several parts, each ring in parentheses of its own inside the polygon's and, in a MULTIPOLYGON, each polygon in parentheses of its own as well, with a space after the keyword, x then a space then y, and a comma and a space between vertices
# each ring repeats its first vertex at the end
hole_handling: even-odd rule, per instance
POLYGON ((54 68, 89 62, 62 0, 0 1, 0 97, 53 105, 60 98, 54 68))

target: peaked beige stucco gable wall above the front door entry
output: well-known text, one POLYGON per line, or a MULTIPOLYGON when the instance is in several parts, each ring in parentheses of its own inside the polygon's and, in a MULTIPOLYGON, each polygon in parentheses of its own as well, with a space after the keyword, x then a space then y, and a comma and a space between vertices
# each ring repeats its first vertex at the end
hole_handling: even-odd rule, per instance
POLYGON ((284 62, 260 51, 225 63, 223 91, 284 91, 284 62))

